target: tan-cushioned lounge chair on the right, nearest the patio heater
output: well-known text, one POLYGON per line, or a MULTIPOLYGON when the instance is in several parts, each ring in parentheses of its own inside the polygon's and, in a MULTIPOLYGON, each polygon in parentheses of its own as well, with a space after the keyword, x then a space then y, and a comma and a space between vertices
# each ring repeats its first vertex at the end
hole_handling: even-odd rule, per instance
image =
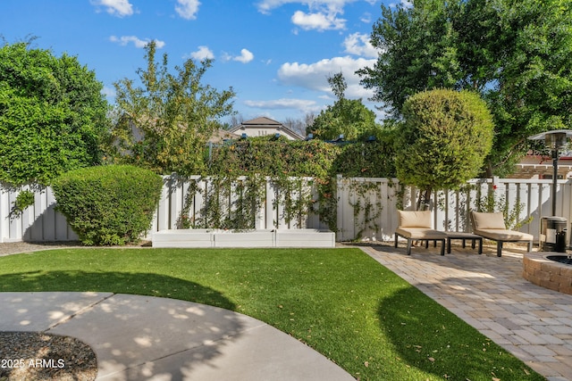
MULTIPOLYGON (((495 213, 473 211, 471 213, 471 221, 475 235, 497 241, 497 257, 502 255, 502 244, 504 242, 527 242, 528 251, 532 252, 533 250, 534 236, 517 230, 507 229, 501 211, 495 213)), ((482 249, 480 253, 482 253, 482 249)))

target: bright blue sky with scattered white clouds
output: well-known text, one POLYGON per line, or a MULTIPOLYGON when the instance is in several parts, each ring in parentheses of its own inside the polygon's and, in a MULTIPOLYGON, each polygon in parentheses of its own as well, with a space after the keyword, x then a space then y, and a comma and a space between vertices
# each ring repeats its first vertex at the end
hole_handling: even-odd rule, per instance
MULTIPOLYGON (((400 0, 394 0, 400 1, 400 0)), ((390 1, 383 0, 385 4, 390 1)), ((0 35, 8 43, 67 53, 96 72, 114 101, 113 83, 137 79, 142 47, 156 40, 170 66, 214 59, 205 82, 232 87, 245 120, 303 119, 333 97, 328 75, 343 72, 346 95, 371 92, 354 72, 372 66, 369 34, 382 0, 0 0, 0 35)))

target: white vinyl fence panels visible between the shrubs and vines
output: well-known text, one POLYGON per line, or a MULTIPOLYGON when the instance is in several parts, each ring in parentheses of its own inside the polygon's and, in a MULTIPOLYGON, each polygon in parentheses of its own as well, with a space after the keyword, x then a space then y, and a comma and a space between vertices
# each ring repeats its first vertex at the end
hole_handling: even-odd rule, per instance
MULTIPOLYGON (((191 190, 189 219, 200 219, 206 200, 209 181, 192 178, 197 186, 191 190)), ((304 179, 303 189, 293 191, 311 192, 317 199, 312 179, 304 179)), ((165 178, 165 186, 156 217, 147 238, 153 232, 178 227, 189 183, 165 178)), ((467 189, 436 192, 432 196, 434 228, 443 231, 467 231, 468 213, 477 203, 494 203, 497 210, 505 205, 515 220, 530 219, 521 231, 538 237, 540 219, 551 215, 552 180, 488 178, 467 183, 467 189), (517 215, 516 215, 517 214, 517 215)), ((13 205, 18 192, 0 187, 0 242, 48 242, 72 241, 77 236, 69 228, 65 218, 55 211, 55 197, 50 188, 36 191, 35 203, 20 215, 13 214, 13 205)), ((376 239, 392 240, 397 227, 397 210, 414 209, 418 192, 413 188, 400 191, 397 179, 388 178, 337 178, 337 240, 376 239)), ((232 208, 229 196, 228 208, 232 208)), ((328 228, 315 214, 303 219, 286 222, 282 207, 283 195, 276 195, 270 180, 266 180, 261 208, 257 212, 256 228, 328 228)), ((557 186, 556 215, 572 217, 572 180, 559 180, 557 186)))

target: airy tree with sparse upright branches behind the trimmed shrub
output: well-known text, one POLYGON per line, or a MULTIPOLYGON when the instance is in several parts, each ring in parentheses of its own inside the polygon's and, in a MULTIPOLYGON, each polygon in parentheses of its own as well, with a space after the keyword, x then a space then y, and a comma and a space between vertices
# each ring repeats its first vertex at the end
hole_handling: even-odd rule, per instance
POLYGON ((156 62, 155 42, 145 49, 147 69, 137 71, 142 86, 131 79, 114 84, 119 121, 112 131, 112 159, 162 175, 203 173, 204 147, 219 127, 217 119, 232 112, 234 92, 202 83, 210 60, 187 60, 172 74, 167 54, 156 62))

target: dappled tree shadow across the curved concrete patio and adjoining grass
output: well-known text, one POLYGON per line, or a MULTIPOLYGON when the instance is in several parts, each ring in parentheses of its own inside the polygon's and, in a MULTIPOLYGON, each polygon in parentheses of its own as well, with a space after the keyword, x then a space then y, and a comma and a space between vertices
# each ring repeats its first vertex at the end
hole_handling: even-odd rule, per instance
POLYGON ((176 277, 33 271, 0 276, 0 291, 4 327, 78 337, 97 352, 101 377, 127 372, 129 379, 143 379, 151 372, 182 379, 220 357, 223 346, 238 340, 245 328, 228 311, 236 305, 223 294, 176 277), (21 295, 27 291, 34 293, 21 295))

